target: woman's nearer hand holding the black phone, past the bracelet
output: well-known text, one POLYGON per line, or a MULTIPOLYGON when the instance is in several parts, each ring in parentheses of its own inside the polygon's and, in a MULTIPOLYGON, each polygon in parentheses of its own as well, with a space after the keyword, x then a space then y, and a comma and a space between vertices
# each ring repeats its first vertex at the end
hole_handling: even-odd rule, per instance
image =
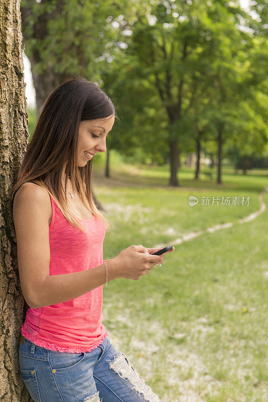
POLYGON ((147 269, 162 264, 163 258, 161 255, 149 254, 147 248, 139 244, 122 250, 113 260, 118 267, 120 278, 138 280, 147 269))

